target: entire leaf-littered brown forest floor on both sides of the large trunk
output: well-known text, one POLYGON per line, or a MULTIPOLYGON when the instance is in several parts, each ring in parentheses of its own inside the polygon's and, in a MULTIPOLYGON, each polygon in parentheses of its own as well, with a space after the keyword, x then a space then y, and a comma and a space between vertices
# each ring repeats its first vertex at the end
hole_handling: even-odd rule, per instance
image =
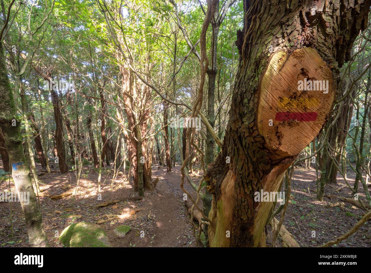
MULTIPOLYGON (((1 167, 1 166, 0 166, 1 167)), ((37 166, 41 169, 40 166, 37 166)), ((118 218, 99 224, 106 232, 114 247, 195 247, 190 216, 183 203, 183 192, 180 189, 180 165, 173 167, 167 173, 166 167, 153 165, 152 178, 159 177, 154 191, 145 191, 145 197, 137 201, 122 201, 107 207, 95 206, 107 201, 125 197, 137 196, 132 182, 127 182, 121 173, 114 181, 111 190, 112 175, 108 174, 111 167, 107 166, 102 175, 101 198, 98 198, 98 173, 94 168, 85 166, 84 175, 79 181, 76 195, 52 200, 49 197, 39 197, 43 224, 49 244, 52 247, 62 247, 58 235, 72 223, 87 221, 96 223, 118 216, 118 218), (104 182, 105 181, 105 182, 104 182), (101 200, 98 200, 101 199, 101 200), (119 238, 114 234, 114 228, 126 224, 131 226, 125 237, 119 238), (143 233, 144 232, 144 233, 143 233), (140 235, 144 234, 144 237, 140 235)), ((198 183, 200 176, 193 175, 198 183)), ((74 172, 60 174, 59 171, 44 174, 40 178, 40 191, 49 195, 61 194, 66 191, 63 186, 73 187, 75 193, 76 177, 74 172)), ((348 174, 350 184, 354 175, 348 174)), ((12 184, 12 183, 11 183, 12 184)), ((344 183, 338 177, 338 184, 326 185, 325 193, 337 196, 350 197, 351 191, 345 187, 337 188, 344 183)), ((12 186, 12 185, 11 185, 12 186)), ((194 193, 186 183, 185 188, 194 193)), ((9 190, 9 182, 0 183, 0 191, 9 190)), ((11 191, 15 192, 12 186, 11 191)), ((364 198, 362 185, 359 185, 359 197, 364 198)), ((342 202, 337 199, 324 198, 316 200, 316 174, 314 170, 297 168, 292 181, 290 204, 283 221, 284 226, 302 247, 315 247, 333 240, 350 230, 360 219, 364 211, 352 204, 344 202, 341 207, 329 207, 329 204, 342 202), (315 231, 315 237, 313 232, 315 231)), ((279 219, 279 216, 276 218, 279 219)), ((0 246, 1 247, 28 247, 27 230, 23 219, 20 203, 0 203, 0 246), (10 221, 10 205, 12 205, 13 237, 10 221)), ((347 240, 337 244, 338 247, 370 247, 371 221, 367 221, 355 234, 347 240)))

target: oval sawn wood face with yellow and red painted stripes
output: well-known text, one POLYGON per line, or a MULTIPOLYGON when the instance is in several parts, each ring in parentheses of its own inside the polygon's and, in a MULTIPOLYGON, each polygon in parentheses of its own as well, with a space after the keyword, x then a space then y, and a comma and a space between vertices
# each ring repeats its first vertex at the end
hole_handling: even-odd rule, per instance
POLYGON ((260 85, 257 125, 277 158, 299 154, 316 137, 334 102, 332 85, 331 69, 315 49, 273 54, 260 85), (307 88, 307 80, 318 81, 307 88), (299 90, 300 81, 305 90, 299 90))

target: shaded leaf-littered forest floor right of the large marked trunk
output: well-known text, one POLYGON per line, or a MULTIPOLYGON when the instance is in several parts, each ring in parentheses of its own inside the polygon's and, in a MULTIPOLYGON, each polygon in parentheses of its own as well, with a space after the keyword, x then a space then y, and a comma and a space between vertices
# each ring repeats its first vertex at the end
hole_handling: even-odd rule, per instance
MULTIPOLYGON (((354 178, 354 172, 348 170, 347 181, 352 187, 354 178)), ((343 185, 346 185, 344 178, 338 174, 337 184, 326 184, 325 195, 350 198, 351 190, 348 187, 338 190, 343 185)), ((287 207, 283 225, 302 247, 321 246, 328 241, 335 240, 336 237, 351 230, 365 213, 361 208, 338 198, 325 196, 323 201, 318 201, 316 188, 316 171, 296 168, 291 184, 290 204, 287 207), (344 206, 329 206, 336 202, 344 206)), ((358 185, 358 194, 360 200, 366 200, 361 182, 358 185)), ((280 217, 276 218, 279 220, 280 217)), ((337 247, 371 247, 371 221, 366 221, 356 233, 338 243, 337 247)))

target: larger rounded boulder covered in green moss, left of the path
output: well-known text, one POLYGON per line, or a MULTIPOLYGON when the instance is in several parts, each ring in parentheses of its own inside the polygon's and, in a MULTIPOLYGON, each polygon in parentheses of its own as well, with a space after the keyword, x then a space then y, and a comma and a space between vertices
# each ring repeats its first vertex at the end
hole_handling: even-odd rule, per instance
POLYGON ((60 234, 59 241, 68 247, 110 247, 104 230, 89 222, 66 227, 60 234))

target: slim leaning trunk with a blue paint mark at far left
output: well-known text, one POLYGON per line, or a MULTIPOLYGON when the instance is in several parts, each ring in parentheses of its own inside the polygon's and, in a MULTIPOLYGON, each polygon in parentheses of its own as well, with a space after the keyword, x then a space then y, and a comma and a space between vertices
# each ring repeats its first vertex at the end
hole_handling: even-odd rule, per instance
POLYGON ((23 153, 22 138, 20 135, 20 119, 17 117, 6 71, 3 55, 3 44, 0 43, 0 126, 4 133, 9 159, 12 163, 12 177, 18 195, 26 194, 27 200, 21 200, 21 206, 26 221, 29 242, 32 246, 48 246, 47 237, 43 228, 42 216, 33 191, 29 168, 23 153), (28 201, 28 202, 27 202, 28 201))

